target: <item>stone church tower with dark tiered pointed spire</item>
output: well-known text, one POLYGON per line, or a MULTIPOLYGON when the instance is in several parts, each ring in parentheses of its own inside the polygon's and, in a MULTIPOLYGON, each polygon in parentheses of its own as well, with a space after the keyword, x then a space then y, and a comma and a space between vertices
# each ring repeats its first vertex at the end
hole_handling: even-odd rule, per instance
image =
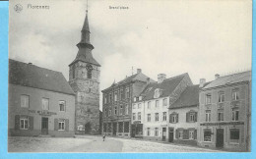
POLYGON ((99 129, 100 65, 93 57, 88 11, 81 30, 78 53, 69 65, 69 83, 76 93, 75 132, 94 133, 99 129))

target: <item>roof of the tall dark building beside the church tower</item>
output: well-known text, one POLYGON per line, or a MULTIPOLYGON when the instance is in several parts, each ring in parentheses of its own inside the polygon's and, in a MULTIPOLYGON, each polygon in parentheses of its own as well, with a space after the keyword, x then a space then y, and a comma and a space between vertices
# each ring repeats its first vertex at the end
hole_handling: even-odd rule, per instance
MULTIPOLYGON (((105 91, 111 87, 115 87, 115 86, 118 86, 118 85, 122 85, 122 84, 125 84, 125 83, 129 83, 131 81, 135 81, 135 80, 139 80, 139 81, 147 81, 149 77, 147 77, 146 75, 142 74, 142 73, 138 73, 138 74, 135 74, 135 75, 132 75, 130 77, 127 77, 125 79, 122 79, 118 82, 115 83, 115 81, 111 84, 111 86, 105 88, 104 90, 102 91, 105 91)), ((150 79, 150 82, 156 82, 154 79, 150 79)))

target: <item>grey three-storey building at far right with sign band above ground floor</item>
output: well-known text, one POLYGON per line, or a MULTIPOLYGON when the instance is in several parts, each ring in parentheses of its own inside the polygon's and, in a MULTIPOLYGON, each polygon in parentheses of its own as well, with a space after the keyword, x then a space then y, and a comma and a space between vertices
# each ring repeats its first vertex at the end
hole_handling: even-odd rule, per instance
POLYGON ((251 72, 220 77, 200 90, 198 144, 250 151, 251 72))

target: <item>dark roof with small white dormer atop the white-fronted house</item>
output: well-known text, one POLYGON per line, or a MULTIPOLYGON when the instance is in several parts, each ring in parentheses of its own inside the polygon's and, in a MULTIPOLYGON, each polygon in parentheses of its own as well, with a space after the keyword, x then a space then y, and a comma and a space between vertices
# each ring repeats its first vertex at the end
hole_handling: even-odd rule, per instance
POLYGON ((141 93, 141 95, 144 96, 143 100, 153 99, 155 90, 158 88, 161 90, 160 97, 166 97, 170 95, 185 76, 188 76, 188 74, 185 73, 176 77, 164 79, 160 83, 156 82, 148 84, 141 93))

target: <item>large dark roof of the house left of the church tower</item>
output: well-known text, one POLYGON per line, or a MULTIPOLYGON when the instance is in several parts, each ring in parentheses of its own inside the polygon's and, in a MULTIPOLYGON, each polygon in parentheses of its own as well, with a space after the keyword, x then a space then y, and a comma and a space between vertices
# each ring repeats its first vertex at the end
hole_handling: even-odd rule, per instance
POLYGON ((74 95, 62 73, 9 59, 9 83, 74 95))

